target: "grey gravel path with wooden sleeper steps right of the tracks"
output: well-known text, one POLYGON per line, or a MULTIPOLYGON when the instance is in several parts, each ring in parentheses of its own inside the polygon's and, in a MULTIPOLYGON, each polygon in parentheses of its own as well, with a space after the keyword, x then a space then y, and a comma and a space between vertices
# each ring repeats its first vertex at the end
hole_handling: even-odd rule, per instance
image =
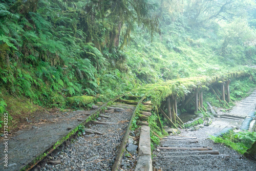
MULTIPOLYGON (((256 104, 256 91, 250 96, 238 102, 229 113, 218 112, 218 115, 229 115, 230 117, 249 118, 254 113, 256 104)), ((227 127, 240 128, 243 119, 216 118, 210 126, 204 126, 198 131, 180 130, 182 136, 196 137, 198 143, 190 143, 173 139, 161 141, 160 146, 180 147, 179 145, 205 145, 211 147, 213 151, 219 151, 221 155, 229 157, 206 155, 200 153, 190 153, 191 150, 181 149, 158 149, 154 151, 153 167, 163 170, 256 170, 256 162, 244 159, 242 155, 223 144, 217 144, 207 139, 209 135, 214 135, 227 129, 227 127), (175 152, 175 153, 174 153, 175 152), (182 152, 182 153, 180 153, 182 152)), ((183 146, 184 147, 184 146, 183 146)))

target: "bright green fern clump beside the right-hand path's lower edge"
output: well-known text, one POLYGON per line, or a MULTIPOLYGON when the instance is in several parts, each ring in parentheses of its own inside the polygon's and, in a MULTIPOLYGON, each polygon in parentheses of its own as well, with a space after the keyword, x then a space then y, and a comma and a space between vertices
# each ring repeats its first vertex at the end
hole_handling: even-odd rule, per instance
POLYGON ((222 137, 211 136, 210 139, 214 140, 216 143, 224 143, 237 152, 244 154, 247 149, 251 147, 252 143, 256 141, 256 133, 249 131, 234 133, 231 131, 224 134, 222 137))

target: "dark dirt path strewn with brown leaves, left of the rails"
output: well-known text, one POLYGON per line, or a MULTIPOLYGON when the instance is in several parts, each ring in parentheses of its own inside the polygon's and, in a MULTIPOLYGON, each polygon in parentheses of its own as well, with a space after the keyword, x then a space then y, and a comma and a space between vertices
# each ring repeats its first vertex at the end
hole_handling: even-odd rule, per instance
POLYGON ((0 140, 0 170, 19 170, 35 156, 46 151, 59 138, 65 136, 68 127, 79 124, 78 119, 86 118, 92 111, 70 111, 46 114, 35 123, 27 124, 23 129, 9 135, 8 168, 4 167, 4 138, 0 140))

